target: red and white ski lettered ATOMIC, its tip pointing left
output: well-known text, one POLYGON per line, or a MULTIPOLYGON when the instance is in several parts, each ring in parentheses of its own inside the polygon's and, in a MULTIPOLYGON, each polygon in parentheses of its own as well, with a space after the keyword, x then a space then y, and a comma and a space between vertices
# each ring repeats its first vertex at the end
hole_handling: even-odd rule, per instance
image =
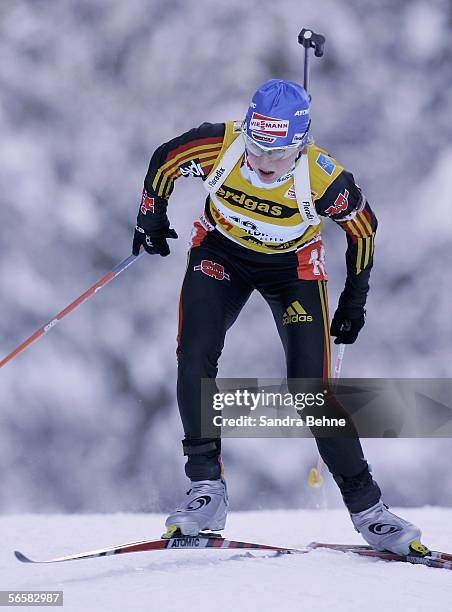
POLYGON ((226 540, 218 534, 200 533, 198 536, 172 535, 159 540, 144 540, 142 542, 131 542, 110 548, 99 548, 88 552, 53 559, 34 560, 30 559, 20 551, 14 551, 16 559, 23 563, 60 563, 62 561, 75 561, 78 559, 93 559, 95 557, 108 557, 110 555, 122 555, 132 552, 145 552, 151 550, 201 550, 201 549, 233 549, 233 550, 264 550, 275 553, 309 552, 308 550, 297 550, 281 546, 270 546, 268 544, 254 544, 252 542, 241 542, 238 540, 226 540))

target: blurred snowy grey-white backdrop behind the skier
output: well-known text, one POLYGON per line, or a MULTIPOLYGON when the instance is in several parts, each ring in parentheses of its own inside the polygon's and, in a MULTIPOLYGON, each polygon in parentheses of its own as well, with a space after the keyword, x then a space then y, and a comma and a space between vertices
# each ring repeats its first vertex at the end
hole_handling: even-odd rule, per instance
MULTIPOLYGON (((130 253, 158 144, 241 118, 268 78, 302 80, 303 26, 327 38, 312 61, 314 136, 354 172, 380 221, 368 321, 343 374, 451 376, 448 0, 3 0, 2 357, 130 253)), ((165 512, 180 498, 177 302, 203 200, 199 182, 181 179, 171 257, 143 257, 2 369, 0 511, 165 512)), ((333 224, 325 236, 333 309, 345 236, 333 224)), ((220 374, 283 372, 254 296, 220 374)), ((450 441, 364 446, 388 503, 452 504, 450 441)), ((312 440, 224 447, 235 509, 340 504, 331 482, 308 490, 312 440)))

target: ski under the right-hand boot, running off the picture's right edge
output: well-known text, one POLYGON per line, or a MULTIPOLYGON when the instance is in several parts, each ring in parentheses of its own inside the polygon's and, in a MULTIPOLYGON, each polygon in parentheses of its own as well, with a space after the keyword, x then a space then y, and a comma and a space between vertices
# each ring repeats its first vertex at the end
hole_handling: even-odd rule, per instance
POLYGON ((389 551, 375 550, 370 546, 361 544, 325 544, 322 542, 311 542, 308 546, 309 550, 320 548, 350 552, 362 557, 374 557, 376 559, 381 559, 382 561, 399 561, 402 563, 412 563, 413 565, 420 564, 426 565, 427 567, 452 570, 452 554, 437 550, 430 550, 425 555, 414 552, 409 555, 397 555, 389 551))

